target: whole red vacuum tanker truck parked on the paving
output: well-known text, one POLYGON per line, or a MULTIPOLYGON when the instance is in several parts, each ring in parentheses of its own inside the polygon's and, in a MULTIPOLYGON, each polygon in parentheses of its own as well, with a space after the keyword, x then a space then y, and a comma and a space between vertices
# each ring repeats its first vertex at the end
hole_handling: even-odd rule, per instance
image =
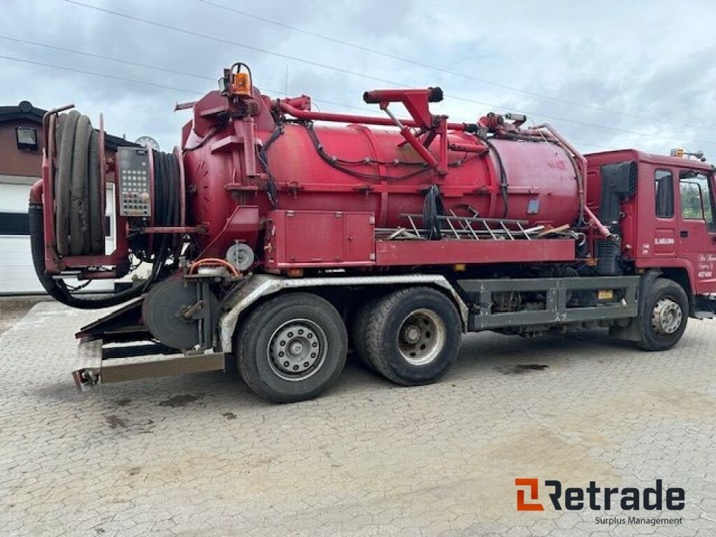
POLYGON ((77 334, 94 361, 76 381, 236 368, 258 395, 292 402, 326 390, 349 346, 414 385, 440 379, 465 332, 604 326, 659 351, 689 317, 712 316, 711 165, 584 156, 522 115, 450 122, 430 112, 437 87, 363 98, 384 117, 271 99, 238 63, 178 105, 193 115, 180 149, 115 158, 101 119, 95 130, 71 106, 48 112, 29 205, 37 276, 69 306, 121 305, 77 334), (140 262, 150 274, 112 296, 64 281, 140 262), (158 357, 117 359, 147 352, 158 357))

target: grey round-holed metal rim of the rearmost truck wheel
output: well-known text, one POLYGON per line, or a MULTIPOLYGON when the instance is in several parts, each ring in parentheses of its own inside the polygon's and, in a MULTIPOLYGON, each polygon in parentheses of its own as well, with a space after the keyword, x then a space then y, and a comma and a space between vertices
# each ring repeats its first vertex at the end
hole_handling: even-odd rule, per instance
POLYGON ((310 319, 291 319, 274 330, 266 346, 271 370, 284 380, 305 380, 326 361, 328 339, 310 319))

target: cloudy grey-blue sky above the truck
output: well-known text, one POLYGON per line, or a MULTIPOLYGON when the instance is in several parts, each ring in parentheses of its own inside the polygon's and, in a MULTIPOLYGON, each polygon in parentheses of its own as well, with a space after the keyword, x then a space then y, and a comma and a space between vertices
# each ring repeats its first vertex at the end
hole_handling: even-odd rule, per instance
POLYGON ((440 4, 3 0, 0 105, 74 102, 170 150, 188 120, 175 102, 241 60, 263 92, 323 111, 370 114, 366 89, 439 85, 433 111, 453 120, 512 110, 585 153, 682 146, 716 160, 715 2, 440 4))

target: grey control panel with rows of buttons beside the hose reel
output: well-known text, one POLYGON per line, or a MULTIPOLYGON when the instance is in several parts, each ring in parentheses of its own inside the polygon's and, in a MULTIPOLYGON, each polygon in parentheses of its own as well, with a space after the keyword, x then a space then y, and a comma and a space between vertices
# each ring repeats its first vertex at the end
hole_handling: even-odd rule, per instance
POLYGON ((117 182, 120 193, 120 216, 152 215, 152 186, 149 173, 149 150, 144 147, 120 147, 117 182))

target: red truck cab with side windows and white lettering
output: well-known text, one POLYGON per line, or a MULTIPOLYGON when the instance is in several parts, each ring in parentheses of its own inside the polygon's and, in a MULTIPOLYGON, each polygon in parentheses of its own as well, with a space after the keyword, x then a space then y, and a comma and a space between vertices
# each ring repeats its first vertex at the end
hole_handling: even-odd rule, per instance
POLYGON ((632 163, 634 193, 621 195, 622 261, 637 274, 658 270, 692 297, 691 316, 702 316, 716 293, 714 168, 689 158, 618 150, 586 155, 587 205, 601 207, 605 165, 632 163))

